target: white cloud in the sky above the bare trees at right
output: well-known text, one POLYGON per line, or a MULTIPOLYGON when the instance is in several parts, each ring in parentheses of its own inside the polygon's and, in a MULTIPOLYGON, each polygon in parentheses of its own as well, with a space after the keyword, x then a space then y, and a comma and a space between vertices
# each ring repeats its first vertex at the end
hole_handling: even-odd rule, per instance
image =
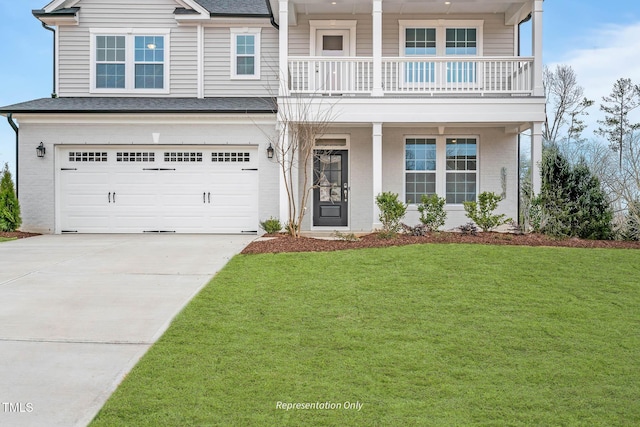
MULTIPOLYGON (((560 55, 558 64, 570 65, 585 96, 595 101, 586 120, 589 127, 584 136, 590 136, 598 127, 597 119, 603 117, 599 110, 602 97, 611 93, 616 80, 630 78, 640 84, 640 22, 596 28, 582 43, 585 47, 560 55)), ((556 64, 548 65, 554 68, 556 64)), ((633 119, 640 120, 640 111, 634 111, 633 119)))

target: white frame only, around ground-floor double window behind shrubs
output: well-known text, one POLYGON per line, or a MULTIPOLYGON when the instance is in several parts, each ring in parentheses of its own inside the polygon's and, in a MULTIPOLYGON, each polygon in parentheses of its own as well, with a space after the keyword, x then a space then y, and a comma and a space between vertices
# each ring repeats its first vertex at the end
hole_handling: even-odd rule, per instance
MULTIPOLYGON (((476 141, 476 170, 475 171, 457 171, 458 173, 472 173, 476 174, 476 201, 480 190, 480 135, 469 134, 447 134, 447 135, 403 135, 402 137, 402 200, 407 200, 407 173, 412 172, 406 169, 406 147, 408 139, 435 139, 436 140, 436 194, 438 197, 447 198, 447 139, 474 139, 476 141)), ((455 171, 450 171, 456 173, 455 171)), ((415 208, 420 201, 414 201, 408 205, 415 208)), ((446 206, 453 210, 462 210, 462 203, 447 203, 446 206)))

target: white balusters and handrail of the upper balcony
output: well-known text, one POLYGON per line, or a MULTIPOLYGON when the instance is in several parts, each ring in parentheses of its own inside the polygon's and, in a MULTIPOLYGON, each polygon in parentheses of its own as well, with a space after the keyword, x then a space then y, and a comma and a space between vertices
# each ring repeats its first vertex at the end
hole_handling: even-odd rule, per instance
MULTIPOLYGON (((533 92, 533 58, 382 58, 388 94, 505 94, 533 92)), ((369 94, 373 58, 290 57, 289 90, 309 94, 369 94)))

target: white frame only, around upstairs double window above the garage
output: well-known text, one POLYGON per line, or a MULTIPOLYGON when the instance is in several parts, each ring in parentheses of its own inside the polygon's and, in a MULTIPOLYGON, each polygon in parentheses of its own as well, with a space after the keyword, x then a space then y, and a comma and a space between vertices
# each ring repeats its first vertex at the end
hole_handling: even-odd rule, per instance
POLYGON ((97 94, 151 94, 166 95, 170 93, 171 71, 171 30, 158 28, 92 28, 89 30, 90 43, 90 93, 97 94), (124 88, 96 87, 96 37, 97 36, 125 36, 125 86, 124 88), (136 89, 135 87, 135 38, 136 36, 164 37, 164 81, 161 89, 136 89))

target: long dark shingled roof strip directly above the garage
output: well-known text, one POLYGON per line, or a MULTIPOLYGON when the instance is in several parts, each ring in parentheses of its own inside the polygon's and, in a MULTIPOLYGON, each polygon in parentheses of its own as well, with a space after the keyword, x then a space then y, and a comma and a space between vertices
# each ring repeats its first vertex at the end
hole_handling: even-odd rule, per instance
POLYGON ((0 107, 0 114, 53 113, 274 113, 276 101, 261 97, 225 98, 40 98, 0 107))

